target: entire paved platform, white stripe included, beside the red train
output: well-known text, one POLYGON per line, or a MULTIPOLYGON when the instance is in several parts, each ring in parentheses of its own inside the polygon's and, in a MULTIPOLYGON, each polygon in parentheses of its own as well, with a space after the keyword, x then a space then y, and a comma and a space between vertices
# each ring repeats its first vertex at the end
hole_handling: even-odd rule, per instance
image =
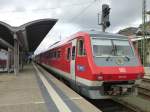
POLYGON ((0 112, 101 112, 38 65, 0 75, 0 112))

